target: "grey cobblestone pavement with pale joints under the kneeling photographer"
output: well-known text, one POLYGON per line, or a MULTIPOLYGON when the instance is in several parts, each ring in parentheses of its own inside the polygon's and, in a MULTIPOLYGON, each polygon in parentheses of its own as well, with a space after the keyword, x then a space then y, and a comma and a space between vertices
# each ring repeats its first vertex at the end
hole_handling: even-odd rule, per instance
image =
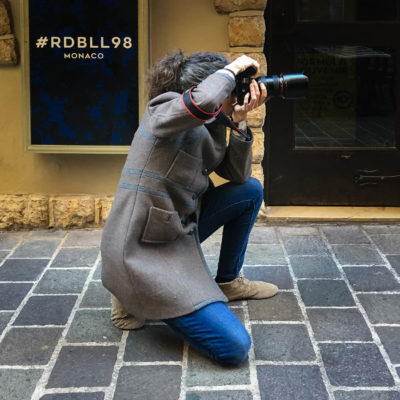
POLYGON ((400 399, 400 225, 256 227, 244 273, 280 292, 231 303, 253 340, 232 368, 162 323, 114 328, 100 236, 0 233, 1 399, 400 399))

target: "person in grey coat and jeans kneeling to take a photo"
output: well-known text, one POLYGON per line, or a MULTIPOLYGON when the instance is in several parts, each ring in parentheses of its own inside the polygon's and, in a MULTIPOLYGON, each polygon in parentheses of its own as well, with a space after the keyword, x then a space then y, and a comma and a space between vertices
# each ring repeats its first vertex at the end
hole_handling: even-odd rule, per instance
POLYGON ((247 112, 264 104, 256 81, 236 104, 235 76, 257 61, 217 53, 167 55, 149 74, 149 97, 104 228, 102 280, 121 329, 161 319, 224 364, 243 361, 250 338, 224 302, 262 299, 275 285, 241 276, 263 189, 252 177, 247 112), (220 114, 234 124, 229 145, 220 114), (221 114, 223 115, 223 114, 221 114), (229 182, 214 187, 215 171, 229 182), (223 226, 215 281, 200 242, 223 226))

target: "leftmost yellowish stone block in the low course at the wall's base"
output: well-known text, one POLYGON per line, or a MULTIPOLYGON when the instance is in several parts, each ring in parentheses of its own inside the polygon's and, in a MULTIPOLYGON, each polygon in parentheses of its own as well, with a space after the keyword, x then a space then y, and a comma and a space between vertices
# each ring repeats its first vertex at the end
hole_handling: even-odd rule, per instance
POLYGON ((0 197, 0 229, 10 229, 24 224, 24 212, 28 198, 23 195, 0 197))

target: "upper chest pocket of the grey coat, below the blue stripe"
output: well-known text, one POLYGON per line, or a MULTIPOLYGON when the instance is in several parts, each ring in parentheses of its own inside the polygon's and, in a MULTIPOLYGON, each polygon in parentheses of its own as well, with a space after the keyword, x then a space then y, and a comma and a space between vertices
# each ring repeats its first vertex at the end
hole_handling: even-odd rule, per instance
POLYGON ((192 188, 195 178, 201 169, 201 164, 200 158, 179 150, 171 167, 168 169, 166 178, 192 188))

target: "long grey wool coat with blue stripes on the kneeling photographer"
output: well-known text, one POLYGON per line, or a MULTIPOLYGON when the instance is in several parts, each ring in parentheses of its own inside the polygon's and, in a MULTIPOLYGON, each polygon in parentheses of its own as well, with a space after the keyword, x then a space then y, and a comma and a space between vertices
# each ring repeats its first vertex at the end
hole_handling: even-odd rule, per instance
MULTIPOLYGON (((193 100, 215 112, 234 85, 216 72, 192 91, 193 100)), ((178 93, 148 103, 101 241, 103 285, 129 313, 166 319, 227 301, 210 275, 197 221, 212 171, 248 179, 252 142, 231 133, 227 146, 225 127, 190 115, 178 93)))

